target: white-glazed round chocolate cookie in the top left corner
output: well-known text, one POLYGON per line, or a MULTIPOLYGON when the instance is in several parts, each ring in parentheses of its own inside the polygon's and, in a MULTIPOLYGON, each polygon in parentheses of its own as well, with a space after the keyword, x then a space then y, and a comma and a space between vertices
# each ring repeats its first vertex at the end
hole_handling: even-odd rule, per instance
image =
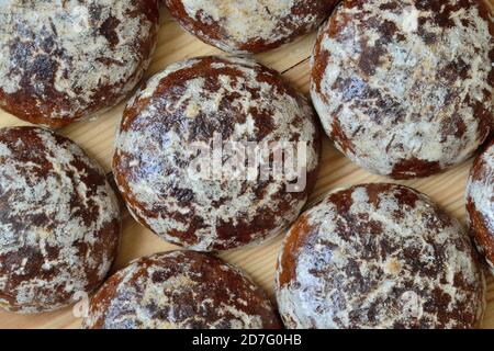
POLYGON ((0 107, 60 127, 117 104, 142 79, 157 0, 3 0, 0 107))

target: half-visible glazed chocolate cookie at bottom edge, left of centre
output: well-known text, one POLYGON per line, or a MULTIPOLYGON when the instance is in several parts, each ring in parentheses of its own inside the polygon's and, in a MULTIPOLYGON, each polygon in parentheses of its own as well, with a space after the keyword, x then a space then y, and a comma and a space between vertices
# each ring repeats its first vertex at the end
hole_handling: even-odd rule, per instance
POLYGON ((265 293, 212 254, 171 251, 141 258, 94 295, 83 328, 274 329, 265 293))

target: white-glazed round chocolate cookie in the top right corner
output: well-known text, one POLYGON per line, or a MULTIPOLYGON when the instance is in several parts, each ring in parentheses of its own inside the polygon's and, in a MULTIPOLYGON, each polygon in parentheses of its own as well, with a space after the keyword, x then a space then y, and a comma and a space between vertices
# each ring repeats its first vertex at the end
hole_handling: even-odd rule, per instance
POLYGON ((493 128, 493 35, 484 1, 343 1, 312 58, 326 133, 394 179, 464 161, 493 128))

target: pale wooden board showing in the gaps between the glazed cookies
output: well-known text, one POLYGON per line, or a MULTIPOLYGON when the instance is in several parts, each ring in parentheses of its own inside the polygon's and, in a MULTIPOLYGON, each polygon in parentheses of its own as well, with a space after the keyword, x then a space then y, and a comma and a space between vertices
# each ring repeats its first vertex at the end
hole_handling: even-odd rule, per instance
MULTIPOLYGON (((490 0, 494 3, 494 0, 490 0)), ((282 72, 282 75, 304 93, 308 92, 308 58, 315 41, 312 33, 295 43, 280 49, 256 55, 256 58, 282 72)), ((169 14, 162 10, 158 47, 153 65, 147 72, 150 76, 167 65, 189 57, 221 54, 212 46, 203 44, 182 31, 169 14)), ((82 146, 110 173, 113 152, 115 125, 120 121, 123 104, 113 109, 93 122, 78 122, 59 133, 82 146)), ((26 123, 0 111, 0 127, 25 125, 26 123)), ((442 208, 465 223, 464 190, 472 161, 468 161, 447 173, 427 179, 398 182, 422 191, 436 201, 442 208)), ((327 191, 366 182, 390 182, 392 180, 373 176, 352 165, 339 154, 325 138, 322 169, 317 185, 307 205, 321 199, 327 191)), ((144 254, 176 249, 139 226, 128 215, 124 218, 122 247, 113 270, 122 268, 128 261, 144 254)), ((266 292, 273 297, 274 264, 283 234, 257 247, 224 252, 220 256, 247 271, 266 292)), ((494 328, 494 278, 487 279, 487 309, 483 328, 494 328)), ((78 328, 80 319, 75 318, 72 307, 63 310, 32 316, 21 316, 0 312, 0 328, 78 328)))

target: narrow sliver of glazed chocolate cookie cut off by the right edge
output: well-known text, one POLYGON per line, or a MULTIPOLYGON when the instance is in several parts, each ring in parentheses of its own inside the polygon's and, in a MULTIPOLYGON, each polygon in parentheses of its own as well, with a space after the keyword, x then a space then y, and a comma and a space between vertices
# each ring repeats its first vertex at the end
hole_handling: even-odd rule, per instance
POLYGON ((470 229, 494 273, 494 140, 480 155, 467 188, 470 229))

